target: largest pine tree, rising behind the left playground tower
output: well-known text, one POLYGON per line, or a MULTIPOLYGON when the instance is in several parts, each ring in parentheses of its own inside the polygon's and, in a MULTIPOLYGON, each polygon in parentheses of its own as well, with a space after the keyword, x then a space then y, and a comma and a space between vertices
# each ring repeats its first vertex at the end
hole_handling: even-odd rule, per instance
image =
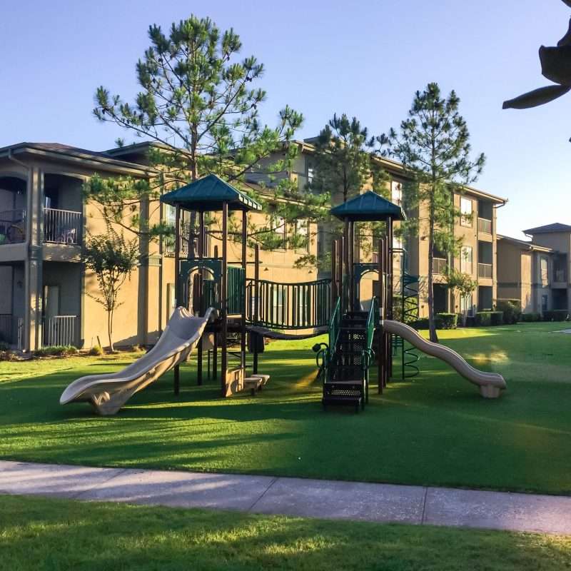
MULTIPOLYGON (((303 116, 285 106, 276 127, 261 123, 259 110, 266 91, 253 85, 263 75, 263 64, 254 56, 238 58, 242 44, 233 29, 221 32, 211 19, 191 16, 172 24, 168 33, 150 26, 148 36, 151 46, 136 64, 141 91, 135 101, 128 103, 101 86, 96 91, 94 114, 100 121, 156 143, 149 161, 158 171, 150 183, 94 177, 86 194, 108 219, 124 223, 126 214, 133 213, 127 216, 126 227, 155 238, 167 229, 160 225, 142 228, 135 206, 156 200, 163 190, 215 173, 263 204, 266 226, 251 233, 251 239, 272 248, 273 221, 279 218, 288 223, 300 217, 295 208, 302 198, 298 189, 276 174, 291 170, 288 165, 296 147, 288 143, 303 116), (277 162, 270 159, 276 151, 283 152, 277 162), (246 173, 270 181, 264 193, 248 186, 246 173)), ((316 202, 311 213, 317 218, 316 202)), ((192 216, 191 234, 195 226, 192 216)), ((189 256, 193 248, 191 239, 189 256)))

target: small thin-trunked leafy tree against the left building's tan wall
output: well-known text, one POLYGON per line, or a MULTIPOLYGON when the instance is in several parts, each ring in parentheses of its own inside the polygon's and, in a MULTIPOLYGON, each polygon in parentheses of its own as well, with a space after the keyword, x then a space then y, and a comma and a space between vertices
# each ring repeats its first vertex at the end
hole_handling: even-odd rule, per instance
POLYGON ((89 236, 84 246, 84 263, 97 280, 100 295, 88 293, 90 298, 103 305, 107 312, 109 350, 113 347, 113 315, 123 302, 118 300, 119 290, 138 263, 137 239, 127 241, 110 223, 107 233, 89 236))

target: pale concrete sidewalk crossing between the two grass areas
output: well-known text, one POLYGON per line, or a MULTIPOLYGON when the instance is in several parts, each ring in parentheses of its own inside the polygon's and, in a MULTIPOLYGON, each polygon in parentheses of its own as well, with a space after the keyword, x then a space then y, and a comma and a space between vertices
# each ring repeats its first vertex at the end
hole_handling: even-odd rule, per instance
POLYGON ((0 494, 571 535, 571 497, 0 461, 0 494))

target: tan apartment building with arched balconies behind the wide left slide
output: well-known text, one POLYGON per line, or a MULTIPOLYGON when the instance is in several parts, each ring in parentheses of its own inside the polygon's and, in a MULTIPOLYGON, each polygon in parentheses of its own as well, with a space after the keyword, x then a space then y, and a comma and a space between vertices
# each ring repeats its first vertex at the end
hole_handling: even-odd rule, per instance
MULTIPOLYGON (((59 143, 0 148, 1 341, 25 351, 43 345, 107 344, 106 313, 95 299, 96 279, 81 262, 86 233, 104 233, 106 226, 96 206, 84 200, 82 188, 95 173, 153 176, 148 144, 103 152, 59 143)), ((141 211, 151 222, 161 217, 174 221, 172 209, 158 201, 141 205, 141 211)), ((285 248, 287 231, 302 233, 310 228, 303 221, 298 228, 276 228, 284 236, 284 248, 262 253, 262 278, 308 278, 307 270, 293 268, 301 252, 285 248)), ((214 248, 216 234, 211 242, 214 248)), ((140 262, 123 285, 114 319, 113 338, 118 346, 153 343, 176 303, 172 241, 140 246, 140 262)), ((181 246, 185 251, 186 243, 181 246)), ((238 258, 239 245, 232 247, 238 258)))

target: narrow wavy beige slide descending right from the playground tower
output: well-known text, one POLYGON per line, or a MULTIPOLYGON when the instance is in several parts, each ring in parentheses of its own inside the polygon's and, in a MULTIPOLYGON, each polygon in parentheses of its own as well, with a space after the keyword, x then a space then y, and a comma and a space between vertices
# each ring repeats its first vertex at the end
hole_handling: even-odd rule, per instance
POLYGON ((405 323, 385 319, 383 321, 383 330, 386 333, 395 333, 395 335, 407 340, 408 343, 414 345, 423 353, 448 363, 457 373, 468 379, 470 383, 477 385, 480 388, 480 394, 484 398, 497 398, 500 396, 500 390, 506 388, 505 380, 499 373, 485 373, 482 370, 473 368, 456 351, 439 343, 432 343, 426 340, 405 323))

